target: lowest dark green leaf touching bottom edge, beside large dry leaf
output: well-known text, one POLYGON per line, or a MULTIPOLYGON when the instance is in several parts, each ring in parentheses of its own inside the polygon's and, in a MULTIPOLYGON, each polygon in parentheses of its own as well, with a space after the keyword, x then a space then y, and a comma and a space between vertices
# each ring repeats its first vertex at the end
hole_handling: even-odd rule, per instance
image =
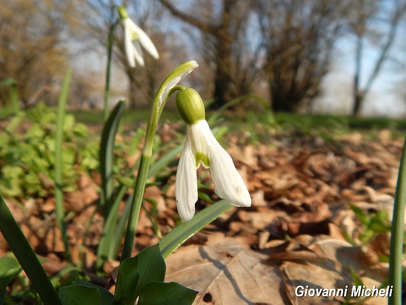
POLYGON ((138 305, 190 305, 197 291, 179 283, 149 283, 141 290, 138 305))

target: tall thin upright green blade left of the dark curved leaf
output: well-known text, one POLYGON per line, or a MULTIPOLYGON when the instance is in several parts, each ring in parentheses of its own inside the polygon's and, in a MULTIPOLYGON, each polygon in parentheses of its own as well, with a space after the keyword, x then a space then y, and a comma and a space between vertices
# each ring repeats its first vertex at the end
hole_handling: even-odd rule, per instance
POLYGON ((62 234, 63 244, 65 246, 66 260, 70 261, 70 253, 67 243, 65 213, 63 211, 63 193, 62 193, 62 141, 63 141, 63 121, 69 86, 71 83, 72 70, 68 69, 62 84, 62 90, 59 94, 58 110, 56 114, 56 137, 55 137, 55 206, 58 225, 62 234))

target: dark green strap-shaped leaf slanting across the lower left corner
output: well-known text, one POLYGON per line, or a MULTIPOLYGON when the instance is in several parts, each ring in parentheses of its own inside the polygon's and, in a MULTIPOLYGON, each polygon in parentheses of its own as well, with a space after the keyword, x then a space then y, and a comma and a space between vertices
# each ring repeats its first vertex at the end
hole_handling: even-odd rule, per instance
POLYGON ((38 257, 0 196, 0 231, 45 305, 62 305, 38 257))

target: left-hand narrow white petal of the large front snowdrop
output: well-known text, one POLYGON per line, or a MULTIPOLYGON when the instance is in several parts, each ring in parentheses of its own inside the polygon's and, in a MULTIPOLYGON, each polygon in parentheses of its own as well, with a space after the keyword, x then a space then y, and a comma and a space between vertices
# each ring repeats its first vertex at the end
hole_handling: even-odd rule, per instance
POLYGON ((180 218, 183 221, 191 220, 195 211, 194 205, 197 201, 197 175, 196 161, 192 153, 188 133, 186 134, 185 145, 176 172, 175 197, 180 218))

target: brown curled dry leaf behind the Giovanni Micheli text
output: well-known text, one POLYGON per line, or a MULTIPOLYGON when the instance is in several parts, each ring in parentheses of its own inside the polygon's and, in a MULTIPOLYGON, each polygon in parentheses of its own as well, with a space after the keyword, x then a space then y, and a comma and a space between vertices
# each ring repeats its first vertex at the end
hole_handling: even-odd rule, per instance
MULTIPOLYGON (((333 303, 345 301, 344 296, 311 297, 296 296, 296 288, 300 286, 309 289, 340 288, 347 289, 347 297, 351 295, 353 279, 351 268, 362 279, 366 288, 379 287, 387 278, 387 265, 377 265, 369 262, 367 254, 360 247, 352 247, 342 239, 330 237, 317 238, 309 245, 309 249, 324 256, 325 260, 308 260, 304 256, 302 261, 285 261, 281 268, 288 285, 289 294, 300 305, 317 303, 333 303)), ((299 291, 297 290, 297 291, 299 291)), ((371 297, 365 304, 379 305, 386 303, 386 297, 371 297)))

